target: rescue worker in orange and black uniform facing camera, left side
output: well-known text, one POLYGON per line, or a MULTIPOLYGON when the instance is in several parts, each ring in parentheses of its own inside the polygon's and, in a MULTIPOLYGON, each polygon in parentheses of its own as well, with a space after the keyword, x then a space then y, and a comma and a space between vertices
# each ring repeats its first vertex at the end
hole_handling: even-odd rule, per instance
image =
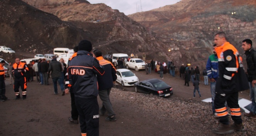
POLYGON ((12 73, 15 76, 14 80, 14 92, 16 95, 15 100, 20 99, 20 93, 19 88, 21 87, 22 90, 22 100, 26 99, 27 97, 27 80, 25 77, 26 71, 28 71, 29 68, 27 67, 26 63, 20 62, 19 58, 15 59, 15 63, 12 66, 12 73))

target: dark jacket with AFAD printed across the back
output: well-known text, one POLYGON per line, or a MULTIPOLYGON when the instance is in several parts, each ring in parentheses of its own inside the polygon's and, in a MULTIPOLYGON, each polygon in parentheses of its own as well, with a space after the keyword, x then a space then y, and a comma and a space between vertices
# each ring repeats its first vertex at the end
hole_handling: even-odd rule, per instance
POLYGON ((104 74, 98 60, 88 51, 78 51, 77 56, 69 61, 68 80, 75 97, 96 98, 98 96, 97 76, 104 74))

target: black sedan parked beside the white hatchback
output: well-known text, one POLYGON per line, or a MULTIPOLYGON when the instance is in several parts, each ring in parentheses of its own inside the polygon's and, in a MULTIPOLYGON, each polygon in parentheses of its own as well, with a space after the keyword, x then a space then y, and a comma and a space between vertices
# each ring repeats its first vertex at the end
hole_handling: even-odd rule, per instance
POLYGON ((172 87, 159 79, 140 81, 134 84, 135 92, 167 97, 173 94, 172 87))

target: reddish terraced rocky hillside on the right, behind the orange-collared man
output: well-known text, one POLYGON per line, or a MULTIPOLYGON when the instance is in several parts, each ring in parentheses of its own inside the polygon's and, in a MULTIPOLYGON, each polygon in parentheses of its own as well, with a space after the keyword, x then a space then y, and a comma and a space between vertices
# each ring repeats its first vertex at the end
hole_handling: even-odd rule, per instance
POLYGON ((255 15, 255 0, 181 0, 129 17, 153 30, 166 48, 179 48, 173 51, 180 54, 173 56, 175 59, 205 64, 217 32, 226 32, 240 54, 244 52, 240 46, 243 39, 256 43, 255 15))

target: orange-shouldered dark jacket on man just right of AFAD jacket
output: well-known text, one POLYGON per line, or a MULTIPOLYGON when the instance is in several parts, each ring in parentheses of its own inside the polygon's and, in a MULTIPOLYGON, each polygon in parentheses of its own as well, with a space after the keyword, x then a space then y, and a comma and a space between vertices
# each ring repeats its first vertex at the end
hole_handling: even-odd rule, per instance
POLYGON ((113 81, 116 81, 116 78, 117 78, 116 69, 114 65, 111 62, 104 60, 102 56, 99 56, 96 59, 99 61, 99 65, 101 65, 105 70, 104 75, 97 76, 98 83, 99 83, 99 91, 112 88, 113 81))

